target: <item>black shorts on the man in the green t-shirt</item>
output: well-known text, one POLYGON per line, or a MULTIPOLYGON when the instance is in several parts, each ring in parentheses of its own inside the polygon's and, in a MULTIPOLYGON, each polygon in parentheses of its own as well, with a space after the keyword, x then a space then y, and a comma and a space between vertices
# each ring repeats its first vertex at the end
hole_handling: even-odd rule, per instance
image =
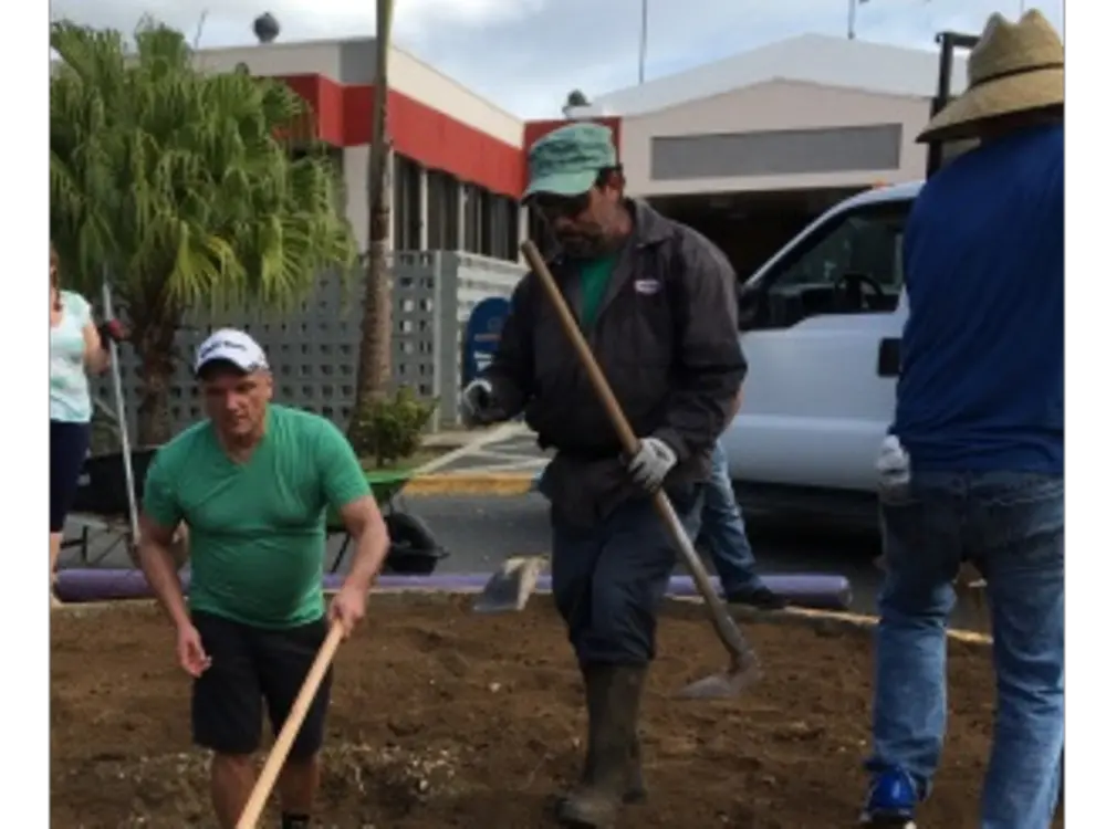
MULTIPOLYGON (((217 754, 253 754, 261 745, 263 709, 280 732, 326 639, 320 619, 288 630, 264 630, 211 613, 192 613, 211 667, 192 685, 192 741, 217 754)), ((292 744, 291 759, 323 745, 332 672, 327 671, 292 744)))

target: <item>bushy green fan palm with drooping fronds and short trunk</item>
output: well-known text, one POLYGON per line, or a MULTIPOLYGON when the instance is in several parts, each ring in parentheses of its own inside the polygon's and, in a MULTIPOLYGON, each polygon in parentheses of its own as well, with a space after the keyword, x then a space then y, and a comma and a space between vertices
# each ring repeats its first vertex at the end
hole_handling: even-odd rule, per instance
POLYGON ((150 19, 117 31, 52 23, 50 233, 66 279, 103 274, 140 361, 138 441, 170 436, 174 337, 198 306, 285 309, 356 243, 323 150, 298 157, 310 113, 283 84, 194 67, 184 34, 150 19))

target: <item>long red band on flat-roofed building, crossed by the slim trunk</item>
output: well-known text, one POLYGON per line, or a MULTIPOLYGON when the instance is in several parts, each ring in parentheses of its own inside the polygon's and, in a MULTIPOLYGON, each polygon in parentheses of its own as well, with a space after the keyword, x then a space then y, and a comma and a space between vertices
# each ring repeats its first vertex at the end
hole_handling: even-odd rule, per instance
MULTIPOLYGON (((320 75, 281 77, 315 113, 317 138, 336 147, 368 144, 372 85, 343 86, 320 75)), ((388 129, 395 150, 427 169, 518 198, 525 187, 525 155, 468 124, 395 90, 388 94, 388 129)))

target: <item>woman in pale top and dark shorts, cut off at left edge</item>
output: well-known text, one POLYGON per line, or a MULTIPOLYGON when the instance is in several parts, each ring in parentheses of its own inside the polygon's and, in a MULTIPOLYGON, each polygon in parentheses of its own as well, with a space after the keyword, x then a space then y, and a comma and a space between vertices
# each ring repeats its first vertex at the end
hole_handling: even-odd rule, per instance
POLYGON ((46 555, 48 595, 55 606, 54 579, 65 516, 73 507, 77 479, 88 453, 92 393, 88 374, 107 369, 107 343, 122 342, 126 332, 117 321, 98 328, 88 301, 61 287, 60 261, 46 243, 46 555))

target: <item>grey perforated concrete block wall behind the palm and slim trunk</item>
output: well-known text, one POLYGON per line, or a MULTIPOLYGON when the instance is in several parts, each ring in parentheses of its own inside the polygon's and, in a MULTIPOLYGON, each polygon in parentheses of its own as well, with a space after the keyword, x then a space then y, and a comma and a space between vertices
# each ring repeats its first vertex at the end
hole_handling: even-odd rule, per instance
MULTIPOLYGON (((488 296, 510 296, 523 273, 521 265, 467 253, 395 254, 393 375, 396 385, 439 401, 435 428, 457 421, 460 345, 473 305, 488 296)), ((180 359, 169 390, 174 431, 202 418, 191 360, 199 344, 225 326, 249 332, 265 348, 278 402, 317 412, 345 428, 354 403, 363 288, 356 276, 343 284, 336 275, 323 274, 314 294, 288 314, 242 307, 188 314, 177 334, 180 359)), ((134 434, 139 377, 128 346, 122 349, 119 368, 134 434)), ((109 375, 94 381, 93 392, 114 410, 109 375)))

